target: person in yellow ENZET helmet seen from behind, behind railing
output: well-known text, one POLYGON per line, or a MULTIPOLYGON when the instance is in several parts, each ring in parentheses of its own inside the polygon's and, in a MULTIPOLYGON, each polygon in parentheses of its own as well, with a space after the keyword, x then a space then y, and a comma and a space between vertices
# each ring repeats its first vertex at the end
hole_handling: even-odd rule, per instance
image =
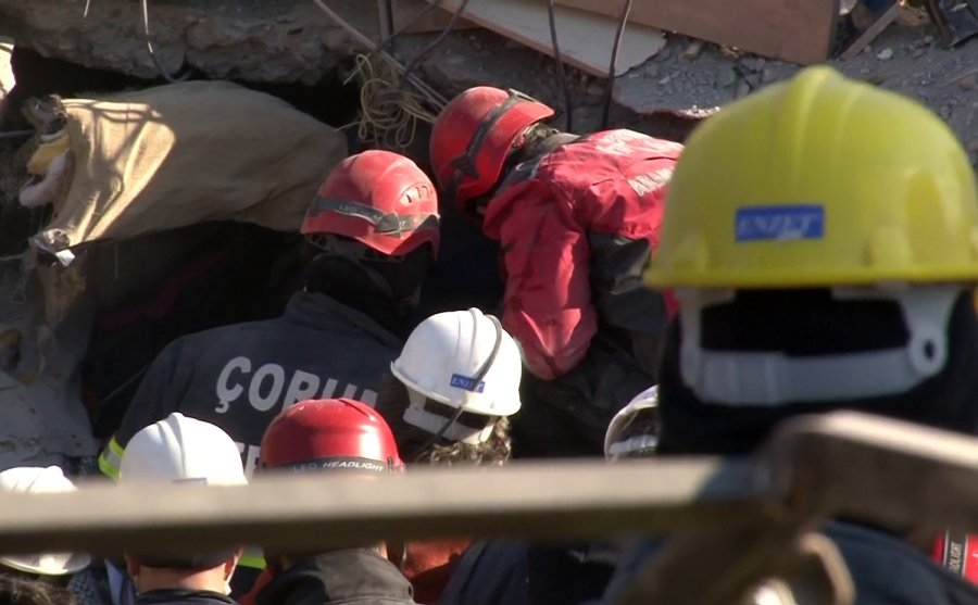
MULTIPOLYGON (((976 241, 967 154, 912 100, 819 66, 707 118, 648 274, 679 299, 657 453, 744 454, 785 418, 842 408, 975 434, 976 241)), ((857 605, 978 603, 911 542, 921 528, 877 525, 823 528, 857 605)), ((607 603, 657 549, 627 557, 607 603)))

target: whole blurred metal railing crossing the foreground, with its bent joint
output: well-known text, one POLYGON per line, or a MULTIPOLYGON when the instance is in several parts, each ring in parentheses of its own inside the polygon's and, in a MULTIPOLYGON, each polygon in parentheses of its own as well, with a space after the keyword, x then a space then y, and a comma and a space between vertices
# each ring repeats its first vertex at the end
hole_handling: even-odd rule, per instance
POLYGON ((731 603, 770 576, 800 579, 806 602, 844 603, 851 585, 838 553, 808 532, 818 519, 937 532, 978 527, 976 504, 978 440, 843 412, 786 423, 750 459, 554 462, 411 469, 379 480, 267 476, 235 488, 88 484, 71 494, 0 495, 0 550, 172 553, 249 543, 309 552, 461 535, 670 533, 624 603, 731 603), (704 553, 715 565, 704 565, 704 553), (709 581, 695 581, 706 568, 709 581))

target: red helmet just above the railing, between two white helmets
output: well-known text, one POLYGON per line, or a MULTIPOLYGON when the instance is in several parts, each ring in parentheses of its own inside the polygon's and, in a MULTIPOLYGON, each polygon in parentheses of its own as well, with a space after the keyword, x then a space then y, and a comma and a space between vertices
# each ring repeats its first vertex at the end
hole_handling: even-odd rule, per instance
POLYGON ((393 433, 371 406, 351 399, 297 403, 262 438, 261 468, 368 470, 404 467, 393 433))

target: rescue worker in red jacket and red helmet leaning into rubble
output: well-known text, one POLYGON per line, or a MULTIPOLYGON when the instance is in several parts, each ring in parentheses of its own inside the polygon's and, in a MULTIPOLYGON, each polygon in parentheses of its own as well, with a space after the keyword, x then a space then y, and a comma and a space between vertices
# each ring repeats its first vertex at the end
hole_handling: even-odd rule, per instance
POLYGON ((502 324, 534 403, 514 427, 519 455, 597 456, 611 417, 656 381, 667 307, 641 273, 682 146, 560 133, 543 124, 553 113, 514 90, 471 88, 435 122, 430 157, 442 199, 502 245, 502 324))

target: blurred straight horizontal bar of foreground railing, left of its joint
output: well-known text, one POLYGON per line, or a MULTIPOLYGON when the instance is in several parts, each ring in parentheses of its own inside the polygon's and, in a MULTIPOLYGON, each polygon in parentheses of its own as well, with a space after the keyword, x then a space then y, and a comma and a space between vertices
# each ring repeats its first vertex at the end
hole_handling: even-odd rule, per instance
POLYGON ((756 522, 779 499, 717 459, 412 469, 367 480, 266 476, 234 488, 102 483, 0 495, 3 552, 160 554, 258 544, 303 552, 384 539, 594 538, 756 522))

